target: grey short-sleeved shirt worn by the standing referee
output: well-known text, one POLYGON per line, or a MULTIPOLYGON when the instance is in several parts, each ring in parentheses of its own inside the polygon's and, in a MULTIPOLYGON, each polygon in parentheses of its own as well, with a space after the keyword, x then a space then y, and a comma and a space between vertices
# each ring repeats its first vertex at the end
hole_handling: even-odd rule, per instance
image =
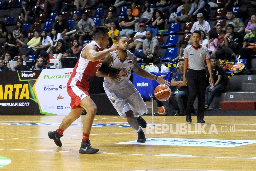
POLYGON ((191 45, 185 48, 184 58, 188 59, 188 69, 204 70, 205 60, 210 60, 210 54, 206 46, 196 49, 191 45))

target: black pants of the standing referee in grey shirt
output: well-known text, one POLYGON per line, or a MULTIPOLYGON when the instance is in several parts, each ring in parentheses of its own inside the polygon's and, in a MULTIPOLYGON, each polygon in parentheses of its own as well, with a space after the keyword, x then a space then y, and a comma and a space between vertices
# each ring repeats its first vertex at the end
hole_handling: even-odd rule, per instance
POLYGON ((197 121, 204 119, 204 97, 205 97, 205 72, 204 70, 188 70, 187 74, 188 82, 188 105, 184 114, 191 116, 191 111, 194 108, 194 102, 196 96, 198 96, 198 110, 197 121))

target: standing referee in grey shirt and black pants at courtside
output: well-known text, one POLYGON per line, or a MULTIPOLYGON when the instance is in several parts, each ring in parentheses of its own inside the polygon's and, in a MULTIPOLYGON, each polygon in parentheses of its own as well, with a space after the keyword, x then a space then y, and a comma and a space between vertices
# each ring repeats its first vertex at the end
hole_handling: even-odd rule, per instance
POLYGON ((196 30, 192 33, 191 39, 193 44, 185 48, 184 51, 184 75, 183 82, 188 84, 188 105, 184 114, 186 121, 192 122, 191 111, 193 109, 194 101, 198 96, 198 110, 197 110, 197 123, 203 124, 204 121, 204 97, 205 97, 205 61, 210 73, 210 84, 213 83, 212 66, 210 62, 210 54, 208 48, 199 44, 201 40, 201 32, 196 30), (186 78, 186 73, 188 74, 186 78))

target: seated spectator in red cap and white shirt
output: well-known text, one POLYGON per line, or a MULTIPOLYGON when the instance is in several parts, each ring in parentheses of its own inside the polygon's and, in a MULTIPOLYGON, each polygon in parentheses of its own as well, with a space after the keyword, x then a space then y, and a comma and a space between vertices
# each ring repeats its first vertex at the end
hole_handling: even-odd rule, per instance
POLYGON ((142 49, 143 41, 146 39, 145 24, 142 22, 139 24, 139 32, 137 32, 133 38, 133 42, 130 43, 130 50, 135 51, 142 49))

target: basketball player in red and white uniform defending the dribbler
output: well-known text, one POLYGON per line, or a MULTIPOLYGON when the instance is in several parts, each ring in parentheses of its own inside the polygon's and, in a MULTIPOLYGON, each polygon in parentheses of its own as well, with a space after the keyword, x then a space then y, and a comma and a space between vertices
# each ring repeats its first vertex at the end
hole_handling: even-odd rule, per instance
MULTIPOLYGON (((102 50, 108 44, 109 29, 106 27, 97 26, 93 31, 94 41, 86 45, 80 58, 68 80, 67 91, 71 97, 71 112, 64 117, 62 123, 56 131, 49 131, 48 136, 56 145, 62 146, 60 138, 63 137, 63 132, 68 128, 73 121, 80 117, 82 109, 87 112, 83 121, 83 139, 79 153, 93 154, 99 149, 94 149, 90 145, 89 135, 93 124, 94 116, 97 112, 95 103, 89 96, 88 86, 97 70, 101 67, 104 57, 110 52, 119 48, 118 45, 112 45, 107 50, 102 50)), ((126 76, 126 72, 120 72, 119 75, 126 76), (122 75, 123 74, 123 75, 122 75)), ((121 76, 120 76, 121 78, 121 76)), ((115 79, 119 79, 116 77, 115 79)))

